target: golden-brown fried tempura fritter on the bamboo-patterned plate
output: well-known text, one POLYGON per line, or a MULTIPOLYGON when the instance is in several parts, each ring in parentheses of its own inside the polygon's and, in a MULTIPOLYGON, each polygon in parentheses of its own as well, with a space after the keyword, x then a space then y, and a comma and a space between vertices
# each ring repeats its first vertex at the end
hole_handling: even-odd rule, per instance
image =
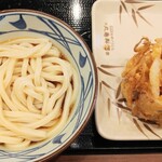
POLYGON ((122 72, 122 93, 134 116, 162 126, 162 39, 141 38, 134 52, 122 72))

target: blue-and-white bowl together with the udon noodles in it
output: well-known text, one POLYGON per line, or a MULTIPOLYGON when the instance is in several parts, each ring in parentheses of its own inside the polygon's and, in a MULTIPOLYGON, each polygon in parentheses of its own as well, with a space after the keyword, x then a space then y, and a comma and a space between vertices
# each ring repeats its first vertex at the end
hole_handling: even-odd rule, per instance
POLYGON ((83 39, 33 10, 0 12, 0 161, 45 161, 86 125, 97 71, 83 39))

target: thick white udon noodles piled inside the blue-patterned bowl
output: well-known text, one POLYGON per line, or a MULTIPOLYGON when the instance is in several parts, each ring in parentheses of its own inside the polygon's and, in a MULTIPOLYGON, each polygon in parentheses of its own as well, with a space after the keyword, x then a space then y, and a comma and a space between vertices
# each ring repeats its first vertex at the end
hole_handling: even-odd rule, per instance
POLYGON ((56 135, 76 103, 78 73, 46 38, 0 43, 0 145, 22 150, 56 135))

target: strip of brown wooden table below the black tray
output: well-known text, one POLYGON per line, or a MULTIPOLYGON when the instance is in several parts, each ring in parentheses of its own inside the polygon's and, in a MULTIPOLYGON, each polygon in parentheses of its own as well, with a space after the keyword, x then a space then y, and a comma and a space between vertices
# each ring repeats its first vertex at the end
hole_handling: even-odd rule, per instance
MULTIPOLYGON (((55 162, 162 162, 162 153, 59 156, 55 162)), ((50 162, 52 162, 50 161, 50 162)))

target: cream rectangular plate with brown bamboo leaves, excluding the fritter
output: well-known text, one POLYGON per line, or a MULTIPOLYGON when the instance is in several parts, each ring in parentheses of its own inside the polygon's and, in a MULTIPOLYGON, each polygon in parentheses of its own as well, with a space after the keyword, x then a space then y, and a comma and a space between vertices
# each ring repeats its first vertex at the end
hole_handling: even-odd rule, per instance
POLYGON ((98 69, 95 119, 107 139, 162 139, 162 129, 133 117, 120 92, 121 72, 141 39, 162 38, 162 1, 98 0, 92 8, 93 53, 98 69))

